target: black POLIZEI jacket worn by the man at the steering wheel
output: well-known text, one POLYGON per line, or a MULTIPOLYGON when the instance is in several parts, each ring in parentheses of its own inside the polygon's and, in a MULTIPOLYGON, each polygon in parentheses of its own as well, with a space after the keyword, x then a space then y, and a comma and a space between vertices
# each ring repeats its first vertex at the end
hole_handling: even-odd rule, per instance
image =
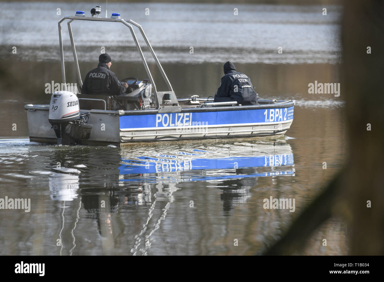
POLYGON ((116 75, 111 72, 106 63, 99 63, 97 68, 89 71, 84 78, 82 94, 119 95, 127 88, 121 85, 116 75))

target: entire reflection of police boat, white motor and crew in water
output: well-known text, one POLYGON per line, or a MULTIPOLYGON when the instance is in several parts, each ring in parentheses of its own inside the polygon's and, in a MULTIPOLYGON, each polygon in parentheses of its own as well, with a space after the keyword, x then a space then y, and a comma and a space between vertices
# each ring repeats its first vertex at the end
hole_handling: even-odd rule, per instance
MULTIPOLYGON (((73 165, 79 173, 61 173, 49 179, 51 199, 77 201, 76 206, 83 204, 87 211, 86 218, 96 220, 101 237, 90 234, 89 238, 101 240, 103 254, 121 254, 117 245, 126 238, 128 252, 146 255, 156 237, 153 234, 174 206, 175 195, 195 199, 196 189, 202 192, 197 195, 205 193, 205 188, 220 189, 224 215, 230 215, 231 209, 250 199, 259 177, 275 182, 276 177, 295 175, 291 146, 281 139, 98 150, 97 155, 91 149, 83 152, 81 162, 86 167, 73 165)), ((73 222, 79 219, 77 208, 71 213, 76 214, 71 216, 72 223, 62 223, 71 227, 70 254, 76 246, 73 222)))

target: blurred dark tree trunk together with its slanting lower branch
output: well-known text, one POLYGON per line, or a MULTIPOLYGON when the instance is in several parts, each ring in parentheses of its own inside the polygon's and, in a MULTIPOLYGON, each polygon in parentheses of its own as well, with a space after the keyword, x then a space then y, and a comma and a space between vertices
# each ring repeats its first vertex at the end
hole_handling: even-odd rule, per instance
POLYGON ((267 255, 301 250, 332 216, 348 222, 350 255, 384 254, 384 1, 344 1, 342 44, 340 97, 349 142, 344 168, 267 255))

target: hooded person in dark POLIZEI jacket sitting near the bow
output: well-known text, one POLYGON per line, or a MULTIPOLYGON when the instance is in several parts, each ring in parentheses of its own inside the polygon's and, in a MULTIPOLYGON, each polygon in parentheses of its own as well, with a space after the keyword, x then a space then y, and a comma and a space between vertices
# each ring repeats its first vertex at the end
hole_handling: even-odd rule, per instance
POLYGON ((237 105, 257 104, 257 93, 253 90, 247 75, 237 72, 233 63, 229 61, 224 64, 224 74, 214 102, 237 101, 237 105))

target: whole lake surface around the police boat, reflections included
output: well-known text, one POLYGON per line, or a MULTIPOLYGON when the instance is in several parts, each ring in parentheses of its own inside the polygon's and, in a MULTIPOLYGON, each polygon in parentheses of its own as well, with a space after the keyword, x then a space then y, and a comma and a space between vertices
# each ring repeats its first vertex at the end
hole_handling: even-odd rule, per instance
MULTIPOLYGON (((233 5, 108 4, 108 13, 120 11, 142 24, 179 98, 213 95, 223 62, 232 60, 260 97, 296 100, 294 121, 280 139, 122 148, 18 138, 28 136, 23 106, 48 103, 45 83, 61 82, 59 7, 61 15, 92 8, 12 2, 0 12, 0 45, 9 51, 0 55, 0 198, 31 199, 30 212, 0 210, 0 255, 260 254, 343 164, 343 89, 340 97, 308 94, 315 80, 339 82, 339 7, 323 16, 318 6, 238 5, 234 16, 233 5), (150 16, 144 15, 147 5, 150 16), (22 7, 19 22, 10 18, 15 7, 22 7), (295 212, 264 209, 270 196, 294 198, 295 212)), ((81 30, 73 28, 79 38, 81 30)), ((105 46, 119 78, 146 78, 131 38, 111 37, 111 31, 81 34, 82 75, 105 46), (123 48, 132 51, 128 57, 123 48)), ((150 66, 161 90, 161 74, 150 66)), ((66 67, 67 82, 76 82, 73 65, 66 67)), ((345 237, 346 225, 329 220, 298 254, 346 255, 345 237)))

